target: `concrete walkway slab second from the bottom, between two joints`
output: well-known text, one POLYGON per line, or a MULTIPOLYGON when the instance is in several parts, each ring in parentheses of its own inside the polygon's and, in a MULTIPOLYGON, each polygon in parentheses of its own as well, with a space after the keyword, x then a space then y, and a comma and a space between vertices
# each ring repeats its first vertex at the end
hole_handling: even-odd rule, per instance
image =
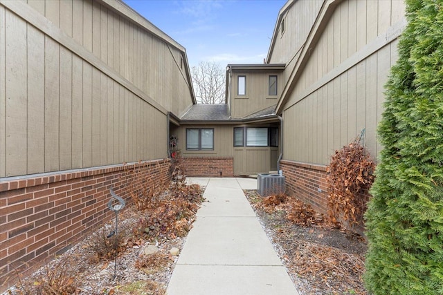
POLYGON ((184 265, 281 266, 257 218, 197 218, 181 251, 184 265))

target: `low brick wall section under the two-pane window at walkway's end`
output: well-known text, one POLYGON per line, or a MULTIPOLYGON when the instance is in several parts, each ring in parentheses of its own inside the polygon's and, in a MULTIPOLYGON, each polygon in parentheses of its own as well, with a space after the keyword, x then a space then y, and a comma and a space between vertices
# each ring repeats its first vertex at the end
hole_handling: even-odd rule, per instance
POLYGON ((232 157, 183 157, 187 176, 233 177, 232 157))

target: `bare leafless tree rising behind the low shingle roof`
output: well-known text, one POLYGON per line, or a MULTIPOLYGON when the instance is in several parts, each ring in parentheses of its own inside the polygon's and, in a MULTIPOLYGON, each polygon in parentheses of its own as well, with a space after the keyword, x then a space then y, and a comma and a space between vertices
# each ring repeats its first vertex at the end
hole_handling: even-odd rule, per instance
POLYGON ((199 104, 221 104, 225 98, 225 72, 213 61, 191 68, 192 86, 199 104))

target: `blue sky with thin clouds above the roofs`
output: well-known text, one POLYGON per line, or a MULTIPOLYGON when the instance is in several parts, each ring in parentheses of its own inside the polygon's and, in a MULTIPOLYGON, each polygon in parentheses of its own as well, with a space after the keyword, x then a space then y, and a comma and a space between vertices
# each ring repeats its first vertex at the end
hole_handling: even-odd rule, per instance
POLYGON ((199 61, 260 64, 286 0, 124 0, 199 61))

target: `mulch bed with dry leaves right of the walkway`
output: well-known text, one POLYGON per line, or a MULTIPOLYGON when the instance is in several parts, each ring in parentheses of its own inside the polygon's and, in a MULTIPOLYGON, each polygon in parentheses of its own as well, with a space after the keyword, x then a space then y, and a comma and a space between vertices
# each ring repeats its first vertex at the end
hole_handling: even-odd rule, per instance
POLYGON ((361 294, 366 242, 284 195, 244 191, 301 294, 361 294))

